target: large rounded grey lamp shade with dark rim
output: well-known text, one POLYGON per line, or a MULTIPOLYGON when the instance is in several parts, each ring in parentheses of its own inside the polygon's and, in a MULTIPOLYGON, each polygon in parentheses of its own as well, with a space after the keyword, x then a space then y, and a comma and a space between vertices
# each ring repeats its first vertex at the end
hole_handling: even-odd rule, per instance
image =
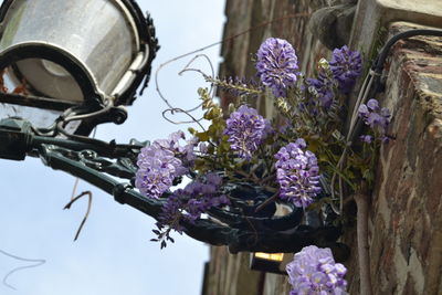
POLYGON ((150 72, 151 36, 133 0, 6 0, 0 21, 0 67, 31 95, 127 105, 150 72))

